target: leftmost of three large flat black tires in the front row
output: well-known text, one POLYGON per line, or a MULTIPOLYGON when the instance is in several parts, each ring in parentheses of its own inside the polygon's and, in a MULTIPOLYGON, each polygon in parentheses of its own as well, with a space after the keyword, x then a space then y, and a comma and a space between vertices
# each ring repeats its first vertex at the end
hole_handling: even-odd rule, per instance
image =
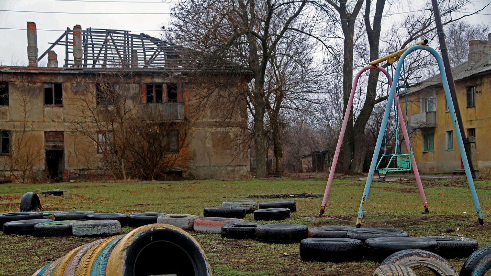
POLYGON ((347 238, 309 238, 300 242, 305 261, 348 262, 361 259, 363 242, 347 238))

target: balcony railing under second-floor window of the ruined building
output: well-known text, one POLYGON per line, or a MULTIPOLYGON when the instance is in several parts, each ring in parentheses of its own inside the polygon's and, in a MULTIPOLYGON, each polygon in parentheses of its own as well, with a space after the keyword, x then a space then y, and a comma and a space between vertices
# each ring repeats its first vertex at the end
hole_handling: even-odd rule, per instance
POLYGON ((184 103, 142 104, 149 120, 184 120, 184 103))

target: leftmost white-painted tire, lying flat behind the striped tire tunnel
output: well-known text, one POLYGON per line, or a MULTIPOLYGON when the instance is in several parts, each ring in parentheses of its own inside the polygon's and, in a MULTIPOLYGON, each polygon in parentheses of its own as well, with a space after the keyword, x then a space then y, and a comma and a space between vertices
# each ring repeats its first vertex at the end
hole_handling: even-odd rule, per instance
POLYGON ((73 223, 74 236, 112 236, 121 232, 121 223, 116 220, 77 221, 73 223))

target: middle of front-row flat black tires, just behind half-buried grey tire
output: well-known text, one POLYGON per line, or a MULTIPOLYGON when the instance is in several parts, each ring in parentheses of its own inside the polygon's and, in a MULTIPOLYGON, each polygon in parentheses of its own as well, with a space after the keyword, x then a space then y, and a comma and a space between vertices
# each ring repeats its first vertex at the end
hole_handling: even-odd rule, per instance
POLYGON ((436 248, 438 248, 436 241, 427 238, 370 238, 363 244, 365 259, 379 262, 385 259, 387 256, 405 249, 424 249, 434 251, 436 248))

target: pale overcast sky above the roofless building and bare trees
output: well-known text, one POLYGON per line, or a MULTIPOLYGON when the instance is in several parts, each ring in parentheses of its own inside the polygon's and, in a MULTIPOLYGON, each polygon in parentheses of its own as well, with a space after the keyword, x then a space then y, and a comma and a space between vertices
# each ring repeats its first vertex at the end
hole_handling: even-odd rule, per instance
MULTIPOLYGON (((54 14, 54 13, 27 13, 0 11, 0 64, 3 65, 27 65, 27 31, 25 30, 28 21, 33 21, 37 25, 37 45, 41 55, 49 46, 49 42, 55 40, 63 33, 67 27, 73 28, 80 24, 82 29, 92 28, 112 28, 121 30, 131 30, 134 33, 145 32, 149 35, 159 37, 159 29, 167 25, 170 19, 170 7, 176 0, 0 0, 0 10, 19 10, 19 11, 49 11, 49 12, 86 12, 86 13, 165 13, 165 14, 136 14, 136 15, 94 15, 94 14, 54 14), (101 2, 102 1, 102 2, 101 2), (124 2, 128 1, 128 2, 124 2), (20 29, 2 29, 20 28, 20 29), (41 30, 50 29, 50 30, 41 30), (156 31, 152 31, 156 30, 156 31)), ((422 0, 415 2, 422 3, 422 0)), ((472 12, 484 7, 490 0, 474 0, 473 5, 469 5, 466 11, 472 12)), ((417 9, 420 5, 416 6, 417 9)), ((491 14, 491 5, 483 13, 491 14)), ((462 14, 458 14, 461 16, 462 14)), ((394 15, 401 16, 401 15, 394 15)), ((466 20, 471 23, 491 22, 491 15, 473 15, 466 20)), ((55 47, 58 54, 60 67, 64 60, 64 47, 55 47)), ((47 56, 39 63, 45 65, 47 56)))

